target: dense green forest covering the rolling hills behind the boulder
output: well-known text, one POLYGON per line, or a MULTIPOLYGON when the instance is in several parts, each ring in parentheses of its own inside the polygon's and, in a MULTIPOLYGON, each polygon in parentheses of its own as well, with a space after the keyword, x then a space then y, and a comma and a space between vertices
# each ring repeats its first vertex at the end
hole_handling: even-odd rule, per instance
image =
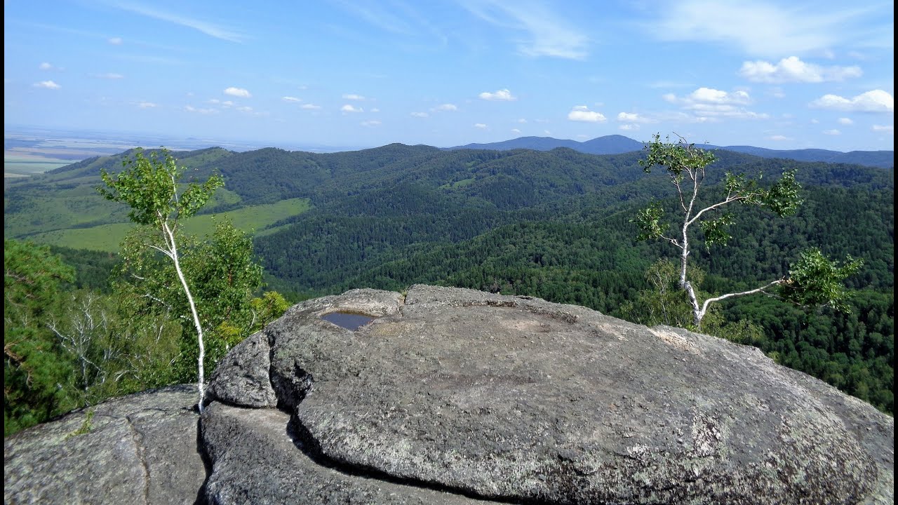
MULTIPOLYGON (((430 283, 542 297, 643 322, 639 300, 653 288, 646 272, 674 253, 636 240, 639 208, 649 201, 676 205, 665 177, 639 167, 640 152, 391 145, 327 155, 274 148, 177 155, 198 178, 220 173, 225 179, 203 213, 309 199, 307 211, 254 230, 266 287, 294 302, 349 288, 401 291, 430 283)), ((85 160, 7 185, 7 232, 40 237, 50 229, 125 220, 123 209, 91 194, 102 167, 115 170, 116 160, 85 160), (52 200, 54 194, 65 195, 65 203, 52 200), (65 205, 101 211, 75 225, 62 217, 26 218, 37 208, 65 205)), ((730 326, 709 332, 754 345, 893 413, 894 173, 719 151, 704 194, 713 199, 723 191, 726 172, 763 174, 768 184, 785 170, 795 170, 803 186, 797 214, 735 208, 730 243, 694 252, 700 289, 725 293, 777 279, 813 246, 833 259, 863 259, 858 274, 846 279, 850 311, 745 297, 721 304, 716 317, 730 326), (736 332, 736 323, 757 331, 736 332)), ((74 267, 60 289, 110 291, 115 254, 59 244, 49 253, 74 267)))

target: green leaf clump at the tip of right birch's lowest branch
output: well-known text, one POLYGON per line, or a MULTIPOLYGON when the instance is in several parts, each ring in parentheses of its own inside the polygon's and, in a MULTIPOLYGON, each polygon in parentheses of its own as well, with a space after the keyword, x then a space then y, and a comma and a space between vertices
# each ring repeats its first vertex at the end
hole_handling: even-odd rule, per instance
POLYGON ((863 264, 864 261, 849 256, 840 267, 819 249, 809 249, 792 265, 788 280, 780 285, 779 293, 800 306, 830 306, 847 311, 848 292, 843 282, 858 273, 863 264))

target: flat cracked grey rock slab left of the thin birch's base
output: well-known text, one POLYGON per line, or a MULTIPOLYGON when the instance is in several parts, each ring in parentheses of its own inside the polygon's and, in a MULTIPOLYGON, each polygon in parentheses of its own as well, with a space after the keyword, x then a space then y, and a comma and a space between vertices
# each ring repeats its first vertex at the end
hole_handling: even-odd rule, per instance
POLYGON ((196 385, 131 394, 4 439, 4 503, 194 503, 196 385), (89 413, 92 412, 92 413, 89 413))

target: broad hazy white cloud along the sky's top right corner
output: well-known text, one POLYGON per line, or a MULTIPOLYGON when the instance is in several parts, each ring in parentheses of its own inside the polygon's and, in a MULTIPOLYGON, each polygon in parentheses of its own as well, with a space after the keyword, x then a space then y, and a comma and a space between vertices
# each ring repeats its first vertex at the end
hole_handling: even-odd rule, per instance
POLYGON ((845 40, 881 39, 871 33, 870 25, 882 11, 881 5, 832 9, 816 4, 681 0, 656 9, 658 15, 647 23, 646 31, 661 40, 732 44, 759 56, 823 53, 845 40))

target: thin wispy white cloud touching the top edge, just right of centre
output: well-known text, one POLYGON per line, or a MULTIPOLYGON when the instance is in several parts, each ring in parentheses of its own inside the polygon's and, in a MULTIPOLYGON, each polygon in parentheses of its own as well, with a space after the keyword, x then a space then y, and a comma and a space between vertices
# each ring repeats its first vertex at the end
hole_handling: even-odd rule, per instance
POLYGON ((589 38, 541 2, 480 0, 465 7, 483 21, 514 32, 517 49, 526 56, 583 59, 588 54, 589 38))

